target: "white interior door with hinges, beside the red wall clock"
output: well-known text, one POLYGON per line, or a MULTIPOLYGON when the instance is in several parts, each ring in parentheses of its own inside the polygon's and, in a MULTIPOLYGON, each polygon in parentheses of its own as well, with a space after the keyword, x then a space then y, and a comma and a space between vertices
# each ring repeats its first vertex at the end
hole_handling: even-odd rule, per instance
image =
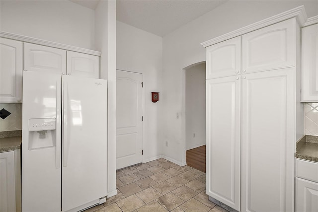
POLYGON ((116 169, 142 162, 142 74, 117 70, 116 169))

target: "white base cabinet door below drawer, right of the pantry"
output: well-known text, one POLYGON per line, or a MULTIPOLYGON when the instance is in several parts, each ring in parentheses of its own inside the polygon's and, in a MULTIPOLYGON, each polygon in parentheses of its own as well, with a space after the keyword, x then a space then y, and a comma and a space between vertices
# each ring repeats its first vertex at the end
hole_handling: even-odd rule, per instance
POLYGON ((318 211, 318 183, 296 178, 296 212, 318 211))

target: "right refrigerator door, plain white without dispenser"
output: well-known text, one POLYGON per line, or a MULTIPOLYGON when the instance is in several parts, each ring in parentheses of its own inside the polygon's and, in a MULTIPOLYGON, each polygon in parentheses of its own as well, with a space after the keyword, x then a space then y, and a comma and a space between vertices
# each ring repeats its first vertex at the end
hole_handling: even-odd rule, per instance
POLYGON ((62 81, 62 211, 79 211, 107 195, 107 81, 62 81))

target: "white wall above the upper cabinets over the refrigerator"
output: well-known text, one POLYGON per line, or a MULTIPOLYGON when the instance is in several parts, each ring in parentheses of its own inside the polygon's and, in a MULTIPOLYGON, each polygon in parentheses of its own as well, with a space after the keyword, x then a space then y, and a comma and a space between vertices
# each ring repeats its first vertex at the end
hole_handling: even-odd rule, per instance
POLYGON ((69 0, 1 0, 0 30, 94 49, 94 10, 69 0))

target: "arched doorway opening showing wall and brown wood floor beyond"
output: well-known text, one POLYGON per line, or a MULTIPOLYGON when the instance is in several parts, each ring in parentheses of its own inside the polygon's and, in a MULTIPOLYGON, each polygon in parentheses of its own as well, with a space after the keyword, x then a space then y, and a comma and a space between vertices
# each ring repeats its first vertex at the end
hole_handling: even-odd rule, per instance
POLYGON ((205 172, 205 61, 184 68, 185 121, 182 133, 185 140, 188 166, 205 172))

